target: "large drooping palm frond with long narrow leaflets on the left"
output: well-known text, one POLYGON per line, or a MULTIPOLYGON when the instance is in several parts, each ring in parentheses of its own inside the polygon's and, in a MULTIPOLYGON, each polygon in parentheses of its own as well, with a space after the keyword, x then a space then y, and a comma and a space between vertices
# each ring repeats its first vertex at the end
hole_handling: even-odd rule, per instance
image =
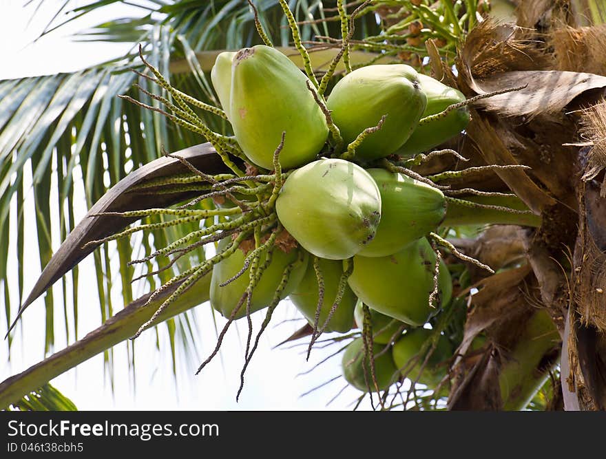
MULTIPOLYGON (((151 44, 147 46, 149 60, 168 76, 175 35, 162 26, 152 29, 150 33, 151 44)), ((180 49, 183 49, 184 43, 186 41, 181 37, 180 49)), ((27 275, 23 273, 22 264, 19 269, 8 266, 10 251, 15 250, 12 253, 22 260, 25 237, 31 238, 31 229, 28 231, 28 228, 23 227, 25 196, 33 197, 39 259, 41 266, 45 266, 53 247, 60 242, 52 235, 59 234, 62 240, 78 223, 74 220, 74 191, 76 197, 83 192, 87 206, 90 207, 129 171, 158 158, 162 147, 176 151, 205 141, 205 138, 169 125, 160 114, 151 113, 118 98, 118 94, 127 94, 150 105, 156 104, 155 100, 145 94, 139 94, 138 89, 132 85, 136 82, 149 92, 158 92, 158 88, 146 78, 130 72, 130 66, 143 70, 140 63, 131 61, 117 67, 106 65, 73 74, 0 81, 0 94, 4 95, 0 100, 0 228, 3 228, 0 282, 4 287, 2 302, 7 325, 10 318, 14 317, 8 286, 19 286, 18 302, 21 303, 24 276, 27 275), (26 169, 32 171, 31 180, 24 173, 26 169), (17 213, 11 211, 15 200, 17 213), (8 246, 10 231, 16 232, 16 248, 8 246)), ((180 75, 174 84, 187 88, 187 92, 198 94, 199 98, 205 98, 204 94, 212 94, 205 78, 200 69, 191 68, 189 72, 180 75)), ((223 120, 214 115, 209 117, 217 118, 207 120, 209 125, 218 130, 225 128, 223 120)), ((193 226, 189 231, 192 228, 193 226)), ((136 255, 145 256, 165 243, 167 237, 175 236, 178 235, 158 232, 154 235, 154 244, 147 246, 145 253, 136 255)), ((202 251, 194 255, 204 257, 202 251)), ((137 273, 127 266, 130 259, 132 248, 127 241, 106 244, 94 257, 103 320, 112 317, 121 308, 112 304, 112 289, 121 290, 124 304, 134 297, 132 279, 137 273), (116 258, 118 260, 114 261, 116 258), (114 268, 116 275, 112 273, 112 266, 118 266, 117 269, 114 268)), ((187 263, 185 258, 184 262, 187 263)), ((178 268, 182 269, 183 264, 178 268)), ((167 270, 163 276, 169 274, 170 271, 167 270)), ((58 327, 64 328, 67 336, 72 339, 79 338, 76 326, 79 315, 79 303, 76 300, 78 270, 73 270, 70 276, 74 304, 71 314, 67 314, 67 309, 64 308, 63 325, 54 323, 56 308, 52 292, 45 297, 46 354, 52 350, 54 332, 59 330, 58 327), (68 319, 70 316, 73 317, 72 320, 68 319)), ((163 280, 161 277, 156 279, 156 282, 163 280)), ((149 282, 149 288, 155 288, 154 279, 149 282)), ((67 285, 64 279, 64 293, 67 293, 67 285)), ((63 297, 67 298, 67 295, 63 297)), ((16 302, 13 301, 13 304, 16 302)), ((177 330, 170 332, 171 336, 175 333, 182 334, 182 330, 178 330, 179 324, 180 322, 177 323, 177 330)), ((109 362, 108 354, 107 363, 109 362)))

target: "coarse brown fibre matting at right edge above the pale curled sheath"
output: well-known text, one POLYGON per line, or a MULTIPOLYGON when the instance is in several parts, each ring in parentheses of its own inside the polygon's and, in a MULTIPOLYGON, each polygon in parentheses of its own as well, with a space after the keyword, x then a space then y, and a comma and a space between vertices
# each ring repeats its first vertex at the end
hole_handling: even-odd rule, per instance
POLYGON ((548 36, 554 68, 606 75, 606 24, 573 28, 563 25, 548 36))

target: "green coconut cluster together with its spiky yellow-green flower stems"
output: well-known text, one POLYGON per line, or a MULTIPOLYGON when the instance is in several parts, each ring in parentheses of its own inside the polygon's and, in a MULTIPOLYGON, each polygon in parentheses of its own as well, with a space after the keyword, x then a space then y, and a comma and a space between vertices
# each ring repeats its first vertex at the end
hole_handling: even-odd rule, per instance
MULTIPOLYGON (((346 381, 384 391, 401 379, 401 363, 429 339, 424 325, 435 325, 452 297, 438 250, 447 246, 458 254, 439 235, 452 198, 439 175, 424 178, 410 167, 466 127, 465 97, 404 64, 353 71, 347 64, 345 76, 324 94, 339 59, 348 56, 348 38, 319 82, 294 19, 286 16, 306 72, 267 44, 222 52, 211 71, 222 109, 194 104, 227 119, 234 136, 211 131, 187 106, 195 99, 148 65, 174 100, 163 99, 171 120, 204 135, 229 169, 207 175, 175 156, 192 175, 170 185, 188 180, 200 195, 178 212, 158 212, 204 224, 155 255, 185 255, 205 244, 216 244, 216 253, 169 281, 176 293, 157 314, 210 274, 211 305, 227 319, 220 339, 233 321, 248 317, 250 323, 250 314, 265 311, 252 348, 249 334, 245 369, 273 310, 290 297, 313 328, 310 350, 322 332, 359 329, 343 356, 346 381), (200 209, 207 198, 217 205, 200 209)), ((433 346, 440 361, 452 348, 444 339, 433 346)), ((200 370, 219 346, 220 340, 200 370)), ((443 373, 428 352, 423 357, 430 365, 425 371, 415 366, 412 374, 429 385, 443 373)))

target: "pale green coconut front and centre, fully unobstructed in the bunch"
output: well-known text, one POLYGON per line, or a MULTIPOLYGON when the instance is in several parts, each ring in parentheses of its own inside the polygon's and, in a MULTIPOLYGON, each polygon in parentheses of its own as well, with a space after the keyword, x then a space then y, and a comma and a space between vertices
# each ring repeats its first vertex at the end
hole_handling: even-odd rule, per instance
POLYGON ((381 195, 362 167, 321 159, 293 171, 275 202, 286 231, 313 255, 353 257, 368 244, 381 218, 381 195))

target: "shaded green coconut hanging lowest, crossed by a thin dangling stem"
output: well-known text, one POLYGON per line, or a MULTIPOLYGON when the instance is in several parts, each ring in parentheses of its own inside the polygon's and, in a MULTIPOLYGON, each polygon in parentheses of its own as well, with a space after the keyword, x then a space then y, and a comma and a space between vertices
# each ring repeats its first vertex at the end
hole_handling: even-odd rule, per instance
MULTIPOLYGON (((384 345, 375 344, 373 346, 375 379, 379 390, 386 390, 397 381, 397 367, 395 366, 391 352, 383 352, 384 349, 384 345), (379 355, 381 352, 383 353, 379 355)), ((364 341, 362 341, 362 338, 357 338, 349 343, 343 354, 341 367, 345 380, 353 385, 353 387, 362 392, 377 391, 373 383, 373 374, 370 370, 370 360, 364 359, 364 341)))

